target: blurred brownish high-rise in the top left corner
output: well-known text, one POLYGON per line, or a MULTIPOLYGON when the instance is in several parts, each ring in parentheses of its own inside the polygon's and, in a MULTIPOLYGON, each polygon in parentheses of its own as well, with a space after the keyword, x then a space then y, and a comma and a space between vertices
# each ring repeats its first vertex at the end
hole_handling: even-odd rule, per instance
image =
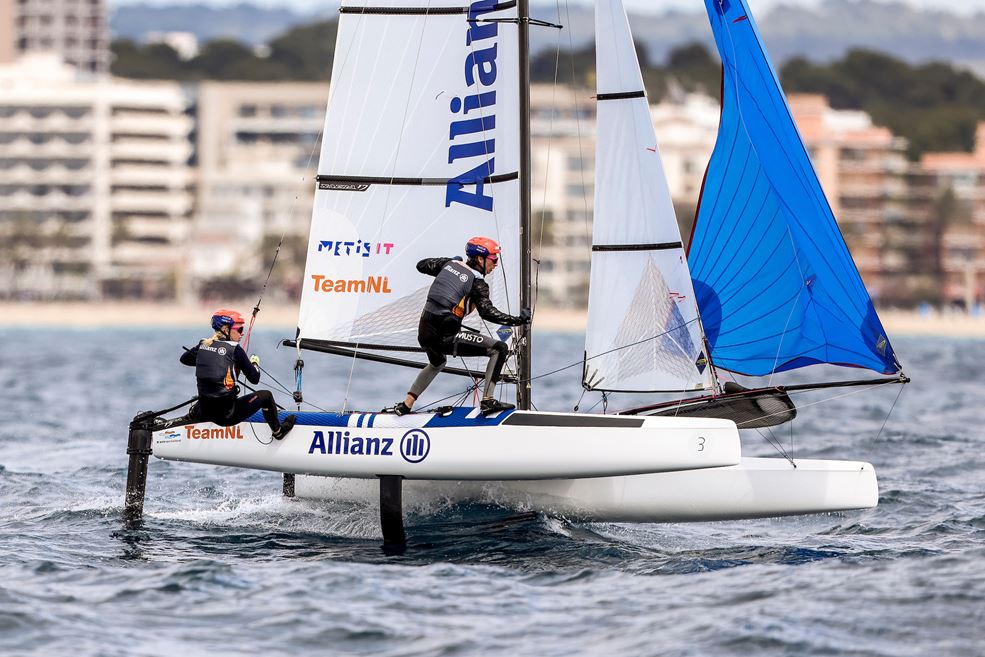
POLYGON ((105 0, 0 0, 0 64, 55 53, 80 72, 109 71, 105 0))

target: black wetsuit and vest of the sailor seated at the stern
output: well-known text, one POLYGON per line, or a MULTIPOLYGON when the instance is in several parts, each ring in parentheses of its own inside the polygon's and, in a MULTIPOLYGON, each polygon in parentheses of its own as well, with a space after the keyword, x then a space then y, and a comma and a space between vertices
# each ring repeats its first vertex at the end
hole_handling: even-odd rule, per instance
POLYGON ((269 390, 257 390, 238 397, 236 374, 242 372, 252 383, 260 382, 260 370, 250 362, 235 342, 216 340, 206 347, 201 342, 186 349, 179 359, 195 368, 198 381, 198 413, 206 421, 228 427, 239 424, 258 410, 272 430, 280 427, 277 404, 269 390))

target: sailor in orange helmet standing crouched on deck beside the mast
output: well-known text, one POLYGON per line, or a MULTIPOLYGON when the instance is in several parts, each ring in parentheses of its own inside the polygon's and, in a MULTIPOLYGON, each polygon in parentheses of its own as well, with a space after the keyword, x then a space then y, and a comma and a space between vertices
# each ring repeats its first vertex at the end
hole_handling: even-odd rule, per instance
POLYGON ((414 402, 444 368, 445 356, 488 356, 485 387, 480 410, 490 415, 513 408, 493 397, 496 381, 506 363, 509 348, 496 338, 483 335, 469 328, 462 328, 462 320, 472 310, 479 317, 495 324, 520 326, 530 323, 530 309, 524 308, 518 316, 497 310, 489 300, 489 285, 484 276, 492 273, 499 264, 500 248, 488 237, 473 237, 465 245, 467 260, 455 258, 425 258, 417 263, 417 271, 434 276, 427 302, 417 329, 417 341, 428 357, 428 365, 414 380, 404 401, 384 409, 405 415, 411 412, 414 402))

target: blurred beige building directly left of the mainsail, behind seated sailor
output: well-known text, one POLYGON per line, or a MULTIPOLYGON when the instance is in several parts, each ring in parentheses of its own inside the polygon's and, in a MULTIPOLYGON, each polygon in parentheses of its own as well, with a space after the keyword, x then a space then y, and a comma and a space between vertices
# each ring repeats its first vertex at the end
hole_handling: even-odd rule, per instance
MULTIPOLYGON (((274 272, 300 285, 327 82, 203 82, 198 93, 198 210, 189 245, 201 297, 235 296, 222 281, 274 272)), ((250 288, 251 292, 253 291, 250 288)))

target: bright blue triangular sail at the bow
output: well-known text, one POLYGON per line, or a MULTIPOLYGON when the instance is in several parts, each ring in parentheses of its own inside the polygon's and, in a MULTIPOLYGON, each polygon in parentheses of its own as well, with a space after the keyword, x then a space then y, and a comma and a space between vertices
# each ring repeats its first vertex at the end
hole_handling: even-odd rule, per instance
POLYGON ((899 365, 744 0, 705 0, 722 118, 688 264, 712 360, 750 375, 899 365))

